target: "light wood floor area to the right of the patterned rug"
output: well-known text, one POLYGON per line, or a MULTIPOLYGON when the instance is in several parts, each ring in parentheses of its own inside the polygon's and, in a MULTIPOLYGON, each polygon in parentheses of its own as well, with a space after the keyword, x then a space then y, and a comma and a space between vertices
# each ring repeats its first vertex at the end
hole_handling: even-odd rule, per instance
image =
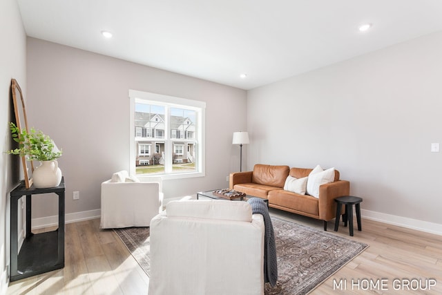
MULTIPOLYGON (((272 213, 318 229, 323 227, 320 220, 303 216, 294 218, 293 214, 279 210, 272 210, 272 213)), ((362 220, 362 231, 358 231, 356 218, 354 227, 354 236, 351 237, 343 222, 340 222, 338 232, 334 231, 334 220, 328 222, 328 231, 365 242, 369 247, 316 287, 311 294, 442 294, 442 236, 365 219, 362 220), (425 280, 430 278, 436 280, 436 285, 430 290, 423 290, 425 280), (422 279, 422 289, 418 290, 416 283, 419 279, 422 279), (346 290, 338 288, 340 280, 347 281, 346 290), (373 282, 371 289, 370 280, 373 282), (376 280, 385 282, 385 287, 376 287, 376 280), (410 289, 406 286, 408 282, 410 289)))

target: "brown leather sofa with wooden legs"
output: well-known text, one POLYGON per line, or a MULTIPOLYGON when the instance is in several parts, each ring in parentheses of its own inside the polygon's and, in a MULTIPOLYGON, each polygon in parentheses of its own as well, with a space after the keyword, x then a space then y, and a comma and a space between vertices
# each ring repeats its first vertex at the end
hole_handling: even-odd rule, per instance
POLYGON ((249 196, 267 199, 269 207, 323 220, 326 231, 327 221, 336 216, 334 199, 349 195, 350 183, 347 180, 340 180, 339 171, 335 170, 334 182, 322 184, 319 187, 318 198, 283 189, 288 175, 304 178, 309 176, 312 170, 256 164, 253 171, 231 173, 229 188, 249 196))

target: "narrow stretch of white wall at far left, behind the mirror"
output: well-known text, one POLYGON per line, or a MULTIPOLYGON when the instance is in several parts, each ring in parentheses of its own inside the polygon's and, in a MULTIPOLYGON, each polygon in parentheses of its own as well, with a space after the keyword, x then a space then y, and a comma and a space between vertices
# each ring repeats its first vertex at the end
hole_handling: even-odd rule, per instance
POLYGON ((3 151, 11 148, 9 122, 14 120, 10 91, 11 79, 17 79, 26 95, 26 35, 17 1, 0 1, 0 294, 6 294, 9 264, 9 192, 19 182, 19 157, 3 151))

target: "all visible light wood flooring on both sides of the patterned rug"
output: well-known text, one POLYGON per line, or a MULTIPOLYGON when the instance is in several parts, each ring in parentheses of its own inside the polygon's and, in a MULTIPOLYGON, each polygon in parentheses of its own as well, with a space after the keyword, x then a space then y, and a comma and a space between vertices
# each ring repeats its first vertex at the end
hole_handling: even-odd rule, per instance
MULTIPOLYGON (((319 220, 276 209, 271 209, 271 214, 323 228, 319 220)), ((336 233, 334 222, 329 222, 328 230, 332 233, 365 242, 369 247, 311 294, 442 294, 442 236, 372 220, 363 219, 362 225, 363 231, 356 229, 354 237, 350 237, 342 223, 336 233), (404 283, 394 286, 395 278, 404 283), (404 285, 410 280, 411 287, 415 287, 416 279, 421 279, 425 287, 429 278, 436 280, 430 291, 407 290, 404 285), (347 282, 347 290, 339 289, 340 280, 347 282), (352 287, 352 280, 361 289, 357 285, 352 287), (370 280, 372 289, 368 285, 370 280), (376 280, 386 287, 376 287, 376 280)), ((39 231, 45 230, 52 229, 39 231)), ((112 230, 99 229, 99 219, 66 225, 65 249, 64 269, 10 283, 7 294, 147 294, 148 276, 112 230)))

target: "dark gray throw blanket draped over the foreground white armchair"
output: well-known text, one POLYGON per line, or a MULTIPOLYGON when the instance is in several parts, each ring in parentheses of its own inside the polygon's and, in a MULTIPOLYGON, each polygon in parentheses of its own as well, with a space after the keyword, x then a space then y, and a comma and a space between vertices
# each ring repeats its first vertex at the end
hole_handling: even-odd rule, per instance
POLYGON ((265 240, 264 240, 264 280, 272 287, 276 286, 278 279, 278 263, 276 261, 276 244, 273 234, 273 225, 269 215, 269 208, 264 200, 260 198, 250 198, 247 202, 251 205, 252 213, 261 214, 264 217, 265 240))

